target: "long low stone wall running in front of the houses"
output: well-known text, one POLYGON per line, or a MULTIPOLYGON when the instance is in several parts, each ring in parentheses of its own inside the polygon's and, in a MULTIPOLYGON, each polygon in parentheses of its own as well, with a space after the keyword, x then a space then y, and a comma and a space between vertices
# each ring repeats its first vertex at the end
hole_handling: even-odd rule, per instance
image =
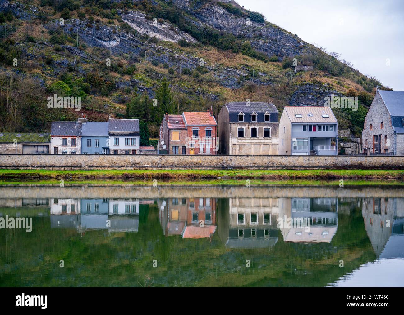
POLYGON ((404 169, 403 156, 3 154, 8 169, 404 169))

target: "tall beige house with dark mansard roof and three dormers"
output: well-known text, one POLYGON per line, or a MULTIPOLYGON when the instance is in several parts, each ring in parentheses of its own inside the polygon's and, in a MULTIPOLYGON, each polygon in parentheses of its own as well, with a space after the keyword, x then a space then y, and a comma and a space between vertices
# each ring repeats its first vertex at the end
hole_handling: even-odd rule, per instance
POLYGON ((219 113, 219 154, 278 155, 279 113, 267 102, 230 102, 219 113))

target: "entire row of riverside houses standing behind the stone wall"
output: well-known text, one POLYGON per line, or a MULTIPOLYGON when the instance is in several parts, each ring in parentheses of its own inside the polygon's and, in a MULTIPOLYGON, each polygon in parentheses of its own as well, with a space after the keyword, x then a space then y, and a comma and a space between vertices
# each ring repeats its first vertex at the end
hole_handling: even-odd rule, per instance
MULTIPOLYGON (((404 155, 404 91, 377 89, 366 114, 362 155, 404 155)), ((338 108, 335 110, 339 110, 338 108)), ((341 136, 345 137, 345 136, 341 136)), ((212 110, 165 114, 158 148, 139 146, 139 120, 52 122, 51 133, 0 133, 0 153, 338 155, 338 121, 330 107, 230 102, 212 110)), ((360 140, 360 139, 359 139, 360 140)))

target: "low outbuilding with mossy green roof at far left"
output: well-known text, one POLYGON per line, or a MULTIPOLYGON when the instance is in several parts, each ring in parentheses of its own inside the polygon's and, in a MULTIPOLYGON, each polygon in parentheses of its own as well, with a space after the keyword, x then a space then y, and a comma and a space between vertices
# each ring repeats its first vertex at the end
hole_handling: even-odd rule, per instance
POLYGON ((0 133, 2 154, 48 154, 50 133, 0 133))

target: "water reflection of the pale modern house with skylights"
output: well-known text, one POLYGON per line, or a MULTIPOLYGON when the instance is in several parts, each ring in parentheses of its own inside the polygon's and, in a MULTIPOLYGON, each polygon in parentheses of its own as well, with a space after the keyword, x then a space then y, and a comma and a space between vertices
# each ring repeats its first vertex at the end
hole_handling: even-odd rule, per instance
POLYGON ((280 198, 279 216, 291 222, 280 226, 285 242, 331 242, 338 228, 338 199, 280 198))

